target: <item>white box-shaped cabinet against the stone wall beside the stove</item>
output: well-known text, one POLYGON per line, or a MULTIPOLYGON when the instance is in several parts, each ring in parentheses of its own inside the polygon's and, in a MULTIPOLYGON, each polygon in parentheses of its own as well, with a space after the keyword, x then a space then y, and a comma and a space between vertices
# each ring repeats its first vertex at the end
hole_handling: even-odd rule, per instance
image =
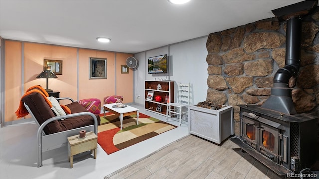
POLYGON ((221 144, 234 135, 233 107, 226 106, 219 110, 197 106, 188 107, 189 134, 221 144))

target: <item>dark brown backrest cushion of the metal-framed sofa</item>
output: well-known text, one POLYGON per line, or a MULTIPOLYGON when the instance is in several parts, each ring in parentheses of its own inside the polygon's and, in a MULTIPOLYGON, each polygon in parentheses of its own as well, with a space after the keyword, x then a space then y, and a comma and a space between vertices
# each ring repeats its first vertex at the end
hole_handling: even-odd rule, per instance
MULTIPOLYGON (((45 101, 44 97, 38 92, 33 92, 23 97, 21 101, 25 102, 29 106, 34 117, 40 125, 43 124, 43 122, 47 119, 55 117, 54 113, 45 101)), ((63 131, 59 121, 50 122, 46 127, 44 127, 43 130, 45 134, 52 134, 55 132, 63 131)))

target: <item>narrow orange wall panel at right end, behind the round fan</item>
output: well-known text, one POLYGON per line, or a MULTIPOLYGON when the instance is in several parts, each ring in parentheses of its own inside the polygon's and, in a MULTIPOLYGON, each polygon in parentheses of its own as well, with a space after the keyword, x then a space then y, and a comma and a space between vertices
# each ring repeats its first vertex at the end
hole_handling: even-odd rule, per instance
POLYGON ((116 94, 123 96, 123 103, 133 102, 133 70, 128 74, 121 73, 121 65, 125 65, 126 59, 131 54, 116 53, 116 94))

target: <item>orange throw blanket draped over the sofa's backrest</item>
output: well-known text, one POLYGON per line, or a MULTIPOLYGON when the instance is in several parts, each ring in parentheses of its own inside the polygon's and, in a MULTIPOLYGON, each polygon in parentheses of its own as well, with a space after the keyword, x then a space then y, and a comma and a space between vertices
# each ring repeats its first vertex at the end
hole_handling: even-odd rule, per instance
MULTIPOLYGON (((31 87, 31 88, 34 88, 34 87, 31 87)), ((29 88, 29 89, 31 89, 31 88, 29 88)), ((39 87, 38 87, 38 88, 39 88, 39 87)), ((29 89, 28 89, 28 90, 29 90, 29 89)), ((32 89, 32 90, 30 90, 30 91, 26 90, 25 94, 21 97, 19 108, 18 108, 18 110, 15 112, 15 114, 16 114, 16 116, 17 116, 18 118, 24 117, 24 116, 26 116, 26 115, 29 114, 29 112, 26 110, 25 106, 23 105, 22 99, 23 99, 23 97, 25 97, 25 96, 27 96, 27 95, 33 93, 33 92, 38 92, 38 93, 40 93, 40 94, 43 96, 43 98, 45 99, 45 101, 49 104, 50 108, 52 107, 51 101, 49 101, 49 99, 46 98, 46 97, 49 96, 49 94, 48 94, 41 86, 40 86, 39 89, 41 89, 41 90, 38 90, 38 89, 32 89), (42 90, 42 89, 43 89, 43 90, 42 90), (44 94, 43 94, 43 93, 44 93, 44 94)))

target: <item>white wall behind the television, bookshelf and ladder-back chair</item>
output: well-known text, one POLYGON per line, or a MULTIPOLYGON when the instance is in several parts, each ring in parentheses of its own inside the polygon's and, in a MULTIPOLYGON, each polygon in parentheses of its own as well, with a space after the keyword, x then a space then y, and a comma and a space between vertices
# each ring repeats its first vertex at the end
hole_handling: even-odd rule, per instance
POLYGON ((144 80, 154 79, 174 80, 175 88, 179 81, 190 82, 193 98, 191 103, 197 104, 205 101, 208 89, 206 41, 207 37, 202 37, 135 54, 135 58, 139 60, 139 68, 134 71, 134 103, 144 105, 144 80), (168 74, 148 74, 147 58, 163 54, 168 54, 169 57, 168 74), (140 98, 137 97, 139 95, 140 98))

